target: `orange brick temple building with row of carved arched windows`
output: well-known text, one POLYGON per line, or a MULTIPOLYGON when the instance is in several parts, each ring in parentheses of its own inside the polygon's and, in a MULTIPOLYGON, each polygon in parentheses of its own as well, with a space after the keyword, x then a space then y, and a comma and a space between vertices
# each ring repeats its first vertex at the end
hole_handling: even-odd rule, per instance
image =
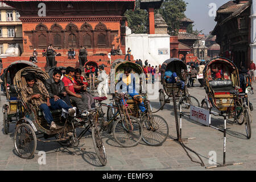
POLYGON ((125 26, 123 14, 134 9, 135 0, 115 1, 3 1, 19 11, 23 30, 23 54, 31 55, 34 48, 47 48, 66 55, 69 48, 88 49, 88 55, 108 53, 112 46, 125 52, 125 26), (46 16, 39 16, 39 3, 46 5, 46 16))

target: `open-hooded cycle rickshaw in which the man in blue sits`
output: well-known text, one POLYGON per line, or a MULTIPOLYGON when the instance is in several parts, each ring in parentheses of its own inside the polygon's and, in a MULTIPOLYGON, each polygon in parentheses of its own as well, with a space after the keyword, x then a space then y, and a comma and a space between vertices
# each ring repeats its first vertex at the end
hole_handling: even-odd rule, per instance
MULTIPOLYGON (((133 74, 135 77, 134 85, 139 96, 129 96, 129 98, 127 98, 127 100, 124 102, 127 104, 129 114, 135 118, 138 118, 143 124, 142 140, 151 146, 159 146, 168 137, 168 124, 164 118, 152 113, 150 101, 147 99, 146 76, 143 73, 143 68, 138 64, 132 63, 131 61, 121 59, 115 60, 112 64, 110 80, 115 81, 115 87, 118 86, 118 82, 123 76, 124 69, 127 67, 132 69, 131 74, 133 74), (139 106, 144 107, 146 111, 142 113, 139 106)), ((115 90, 118 88, 112 88, 112 90, 113 89, 115 90)), ((116 94, 113 94, 113 98, 115 96, 116 94)), ((113 105, 117 105, 117 103, 113 103, 113 105)), ((111 118, 114 113, 114 109, 109 107, 107 118, 111 118)))

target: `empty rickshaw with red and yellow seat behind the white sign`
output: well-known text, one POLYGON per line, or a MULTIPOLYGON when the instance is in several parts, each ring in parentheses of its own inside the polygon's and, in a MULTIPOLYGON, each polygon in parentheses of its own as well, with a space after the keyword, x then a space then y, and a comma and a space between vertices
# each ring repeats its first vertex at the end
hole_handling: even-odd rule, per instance
POLYGON ((234 122, 245 123, 247 138, 251 137, 251 114, 248 109, 249 98, 241 93, 240 77, 236 65, 224 57, 216 57, 205 65, 205 92, 207 97, 201 107, 207 110, 216 109, 234 122))

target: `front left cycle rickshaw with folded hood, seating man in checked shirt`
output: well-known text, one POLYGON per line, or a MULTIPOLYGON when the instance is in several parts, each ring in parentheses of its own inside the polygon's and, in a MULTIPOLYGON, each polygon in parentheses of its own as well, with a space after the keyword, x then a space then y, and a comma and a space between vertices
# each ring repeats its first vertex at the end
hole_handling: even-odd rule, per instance
POLYGON ((14 146, 15 151, 20 158, 30 159, 35 150, 37 141, 40 142, 59 142, 62 146, 79 146, 79 140, 81 137, 91 129, 94 148, 98 159, 102 165, 106 165, 106 152, 102 142, 100 132, 94 124, 95 110, 88 110, 81 115, 71 117, 66 115, 65 121, 61 119, 61 115, 67 114, 67 111, 63 110, 51 110, 53 121, 57 125, 57 129, 50 130, 50 126, 46 122, 43 116, 42 110, 33 104, 28 102, 22 89, 26 85, 24 76, 27 73, 34 73, 36 75, 37 82, 46 81, 49 76, 46 72, 39 68, 24 68, 18 71, 14 77, 15 89, 19 96, 19 104, 24 107, 23 116, 16 122, 16 128, 14 133, 14 146), (83 115, 84 114, 84 115, 83 115), (76 135, 76 126, 73 124, 74 119, 79 117, 87 127, 78 137, 76 135), (87 123, 87 124, 86 124, 87 123), (55 137, 55 139, 49 139, 55 137))

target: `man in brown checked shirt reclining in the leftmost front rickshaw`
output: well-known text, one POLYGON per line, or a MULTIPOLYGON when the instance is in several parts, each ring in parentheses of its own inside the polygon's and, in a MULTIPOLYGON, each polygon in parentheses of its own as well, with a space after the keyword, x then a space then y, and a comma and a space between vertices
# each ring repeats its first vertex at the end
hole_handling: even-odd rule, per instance
POLYGON ((36 76, 34 73, 27 73, 25 80, 27 85, 23 88, 23 92, 26 100, 32 101, 34 105, 37 105, 43 110, 44 118, 51 126, 50 130, 55 130, 56 124, 53 122, 53 117, 49 107, 52 107, 52 109, 63 108, 68 110, 70 115, 75 114, 75 110, 71 106, 68 106, 63 100, 55 101, 54 98, 50 100, 46 86, 44 86, 42 82, 36 82, 36 76))

